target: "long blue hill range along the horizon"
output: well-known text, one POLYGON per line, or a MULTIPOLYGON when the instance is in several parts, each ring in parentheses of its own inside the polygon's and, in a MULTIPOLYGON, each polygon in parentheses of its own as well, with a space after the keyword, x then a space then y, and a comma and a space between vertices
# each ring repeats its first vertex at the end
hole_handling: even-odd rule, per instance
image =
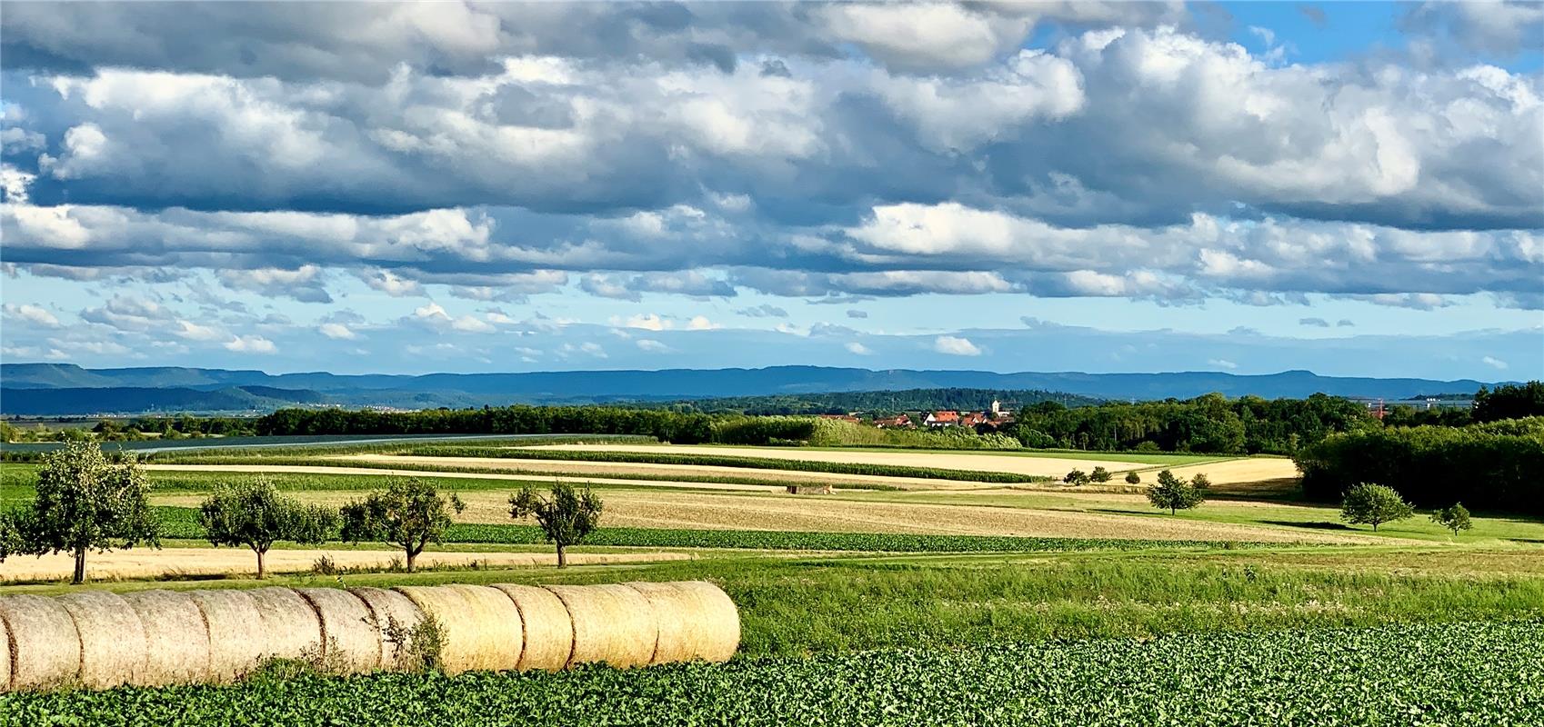
POLYGON ((510 403, 608 403, 766 397, 908 389, 1067 392, 1093 398, 1345 397, 1402 400, 1422 392, 1471 392, 1482 381, 1425 378, 1340 378, 1306 370, 1268 375, 1218 372, 1076 374, 987 370, 766 369, 564 370, 531 374, 338 375, 327 372, 136 367, 82 369, 74 364, 0 364, 0 412, 11 415, 266 411, 278 406, 482 406, 510 403))

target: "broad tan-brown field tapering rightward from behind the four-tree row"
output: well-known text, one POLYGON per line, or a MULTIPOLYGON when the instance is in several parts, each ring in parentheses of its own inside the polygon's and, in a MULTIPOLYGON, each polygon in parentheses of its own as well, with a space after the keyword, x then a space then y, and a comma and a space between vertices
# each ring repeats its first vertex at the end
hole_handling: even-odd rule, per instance
MULTIPOLYGON (((330 499, 324 494, 303 497, 313 502, 341 503, 347 500, 346 494, 337 494, 330 499)), ((462 499, 466 500, 466 512, 459 517, 463 522, 510 522, 505 494, 469 492, 462 499)), ((1351 534, 1311 533, 1294 528, 1215 523, 1158 516, 664 491, 608 492, 605 495, 604 525, 613 528, 786 529, 1152 540, 1388 542, 1387 539, 1351 534)))

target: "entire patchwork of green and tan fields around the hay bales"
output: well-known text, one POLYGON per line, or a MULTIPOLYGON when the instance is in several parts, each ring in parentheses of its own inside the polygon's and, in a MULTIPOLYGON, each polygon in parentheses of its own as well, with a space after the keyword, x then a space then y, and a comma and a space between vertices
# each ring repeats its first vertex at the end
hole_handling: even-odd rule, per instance
MULTIPOLYGON (((886 465, 869 457, 891 452, 852 454, 865 460, 852 466, 871 468, 886 465)), ((1087 471, 1118 462, 899 454, 925 457, 899 466, 951 472, 933 465, 1002 457, 1087 471)), ((931 486, 885 489, 880 475, 679 463, 221 457, 225 465, 151 463, 164 549, 93 554, 83 587, 63 585, 65 556, 12 557, 0 577, 20 583, 0 593, 704 579, 740 608, 740 654, 721 665, 554 675, 340 678, 275 667, 230 687, 6 695, 0 724, 1478 725, 1532 724, 1544 710, 1530 688, 1544 679, 1544 523, 1479 512, 1458 539, 1425 517, 1374 534, 1339 522, 1336 508, 1294 500, 1275 482, 1291 468, 1282 458, 1129 462, 1144 483, 1172 465, 1206 472, 1226 495, 1170 516, 1141 494, 1041 482, 908 478, 931 486), (591 478, 500 463, 622 468, 593 478, 602 526, 570 549, 573 566, 551 568, 540 531, 511 520, 506 499, 556 477, 591 478), (391 568, 398 553, 381 543, 279 543, 270 577, 255 580, 252 553, 208 546, 191 509, 216 485, 255 472, 327 505, 415 474, 459 492, 468 509, 422 556, 420 573, 391 568), (789 495, 778 488, 784 475, 838 492, 789 495), (312 573, 321 556, 343 573, 312 573)), ((34 472, 0 465, 0 503, 31 497, 34 472)))

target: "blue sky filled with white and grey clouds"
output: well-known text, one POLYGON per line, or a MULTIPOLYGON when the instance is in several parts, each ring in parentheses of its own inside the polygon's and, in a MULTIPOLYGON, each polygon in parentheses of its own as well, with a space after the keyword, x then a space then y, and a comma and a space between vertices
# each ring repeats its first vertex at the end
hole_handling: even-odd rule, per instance
POLYGON ((0 360, 1544 377, 1541 3, 31 3, 0 360))

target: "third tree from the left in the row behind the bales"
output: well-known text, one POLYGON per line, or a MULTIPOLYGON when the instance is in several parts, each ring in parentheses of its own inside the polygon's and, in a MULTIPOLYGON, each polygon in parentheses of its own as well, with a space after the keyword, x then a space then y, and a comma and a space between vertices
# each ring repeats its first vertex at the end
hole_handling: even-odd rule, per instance
POLYGON ((400 546, 408 554, 408 573, 423 546, 438 543, 451 526, 451 511, 466 509, 452 492, 440 492, 417 477, 392 482, 384 492, 343 506, 343 539, 357 543, 375 540, 400 546))

